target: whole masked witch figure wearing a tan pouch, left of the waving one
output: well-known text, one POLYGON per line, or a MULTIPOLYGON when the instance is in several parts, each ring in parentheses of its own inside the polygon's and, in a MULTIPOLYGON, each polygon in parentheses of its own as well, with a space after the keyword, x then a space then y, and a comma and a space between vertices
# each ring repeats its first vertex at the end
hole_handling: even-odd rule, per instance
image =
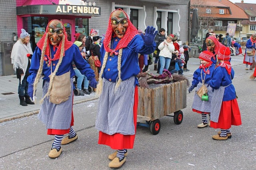
POLYGON ((59 20, 51 20, 46 30, 36 44, 32 56, 30 76, 27 79, 28 94, 33 100, 35 99, 38 82, 44 74, 41 100, 43 103, 38 118, 46 125, 47 135, 55 135, 48 156, 57 158, 62 152, 61 144, 66 145, 78 139, 72 127, 74 125, 73 76, 75 75, 72 61, 81 74, 86 74, 90 86, 96 87, 97 82, 93 70, 83 59, 79 48, 68 41, 64 24, 59 20), (58 88, 55 88, 56 86, 58 88), (62 98, 63 94, 67 96, 62 98), (63 139, 66 133, 68 136, 63 139))

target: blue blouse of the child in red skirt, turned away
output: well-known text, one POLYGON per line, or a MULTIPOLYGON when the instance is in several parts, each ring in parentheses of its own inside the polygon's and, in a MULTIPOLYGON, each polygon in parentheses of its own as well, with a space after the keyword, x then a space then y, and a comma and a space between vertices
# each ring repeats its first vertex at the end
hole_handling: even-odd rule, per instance
POLYGON ((227 86, 222 101, 234 100, 236 98, 236 91, 232 84, 234 73, 233 68, 231 68, 230 76, 225 67, 218 66, 213 72, 212 80, 208 83, 213 89, 218 89, 220 86, 227 86))

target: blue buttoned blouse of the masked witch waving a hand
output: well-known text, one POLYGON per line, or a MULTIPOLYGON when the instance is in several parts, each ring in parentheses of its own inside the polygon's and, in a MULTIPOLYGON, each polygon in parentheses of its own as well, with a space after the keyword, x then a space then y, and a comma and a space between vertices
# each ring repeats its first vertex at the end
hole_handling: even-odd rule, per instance
MULTIPOLYGON (((114 37, 111 39, 110 49, 115 49, 120 38, 114 37)), ((140 54, 151 54, 156 49, 156 43, 153 42, 152 45, 148 46, 144 44, 144 41, 140 35, 135 35, 135 37, 130 41, 127 47, 122 50, 121 57, 121 79, 126 80, 132 76, 136 76, 140 72, 140 67, 138 64, 138 53, 140 54)), ((101 63, 103 63, 105 55, 104 44, 100 49, 101 63)), ((116 52, 119 52, 116 51, 116 52)), ((117 82, 118 78, 118 55, 109 56, 102 77, 111 81, 117 82)), ((100 67, 101 68, 101 67, 100 67)), ((138 85, 138 79, 135 80, 135 85, 138 85)))

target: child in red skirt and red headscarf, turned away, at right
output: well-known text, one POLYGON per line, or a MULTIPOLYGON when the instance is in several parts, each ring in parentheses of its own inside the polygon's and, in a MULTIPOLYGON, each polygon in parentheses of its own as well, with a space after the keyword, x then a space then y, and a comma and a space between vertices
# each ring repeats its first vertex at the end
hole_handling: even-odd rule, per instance
POLYGON ((232 137, 231 125, 241 125, 241 115, 236 100, 236 91, 232 84, 234 70, 230 64, 229 47, 221 47, 218 52, 218 65, 208 85, 214 89, 211 104, 210 127, 220 128, 214 140, 227 140, 232 137))

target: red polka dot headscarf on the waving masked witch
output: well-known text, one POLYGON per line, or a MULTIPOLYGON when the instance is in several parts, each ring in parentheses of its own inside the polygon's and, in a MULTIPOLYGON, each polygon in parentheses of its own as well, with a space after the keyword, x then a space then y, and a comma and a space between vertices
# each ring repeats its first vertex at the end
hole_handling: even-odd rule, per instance
MULTIPOLYGON (((118 8, 117 10, 121 10, 122 12, 124 12, 124 10, 118 8)), ((115 12, 116 10, 114 10, 113 12, 115 12)), ((112 13, 113 13, 112 12, 112 13)), ((124 37, 122 37, 122 39, 118 42, 118 45, 116 46, 115 49, 110 49, 110 47, 108 47, 112 35, 113 35, 113 30, 112 30, 112 26, 111 26, 111 16, 112 13, 110 14, 109 20, 108 20, 108 28, 106 31, 106 36, 104 38, 103 44, 104 44, 104 49, 106 50, 106 52, 110 53, 110 55, 112 55, 113 53, 115 55, 118 55, 118 51, 119 49, 122 49, 124 47, 127 47, 127 45, 130 43, 130 41, 134 38, 135 35, 138 34, 138 29, 136 27, 134 27, 134 25, 132 24, 132 22, 129 20, 128 15, 124 12, 124 14, 126 15, 127 21, 128 21, 128 27, 127 30, 124 34, 124 37)))

